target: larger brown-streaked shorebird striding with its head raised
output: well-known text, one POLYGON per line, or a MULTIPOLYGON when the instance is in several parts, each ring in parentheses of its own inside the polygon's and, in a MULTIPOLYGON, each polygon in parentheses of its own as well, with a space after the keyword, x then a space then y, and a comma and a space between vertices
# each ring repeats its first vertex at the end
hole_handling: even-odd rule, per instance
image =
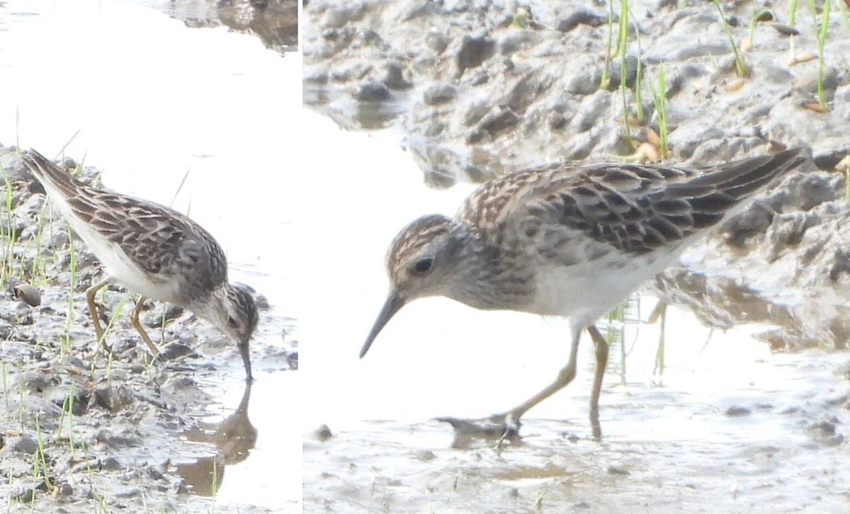
MULTIPOLYGON (((360 350, 363 358, 400 308, 442 296, 473 308, 570 318, 570 359, 540 393, 482 428, 517 435, 519 419, 575 377, 582 330, 596 346, 590 399, 598 400, 608 345, 594 323, 643 281, 805 161, 785 150, 699 169, 571 163, 496 178, 470 195, 456 217, 423 216, 396 236, 386 265, 390 291, 360 350)), ((455 421, 455 420, 445 420, 455 421)), ((468 422, 452 423, 456 427, 468 422)))

